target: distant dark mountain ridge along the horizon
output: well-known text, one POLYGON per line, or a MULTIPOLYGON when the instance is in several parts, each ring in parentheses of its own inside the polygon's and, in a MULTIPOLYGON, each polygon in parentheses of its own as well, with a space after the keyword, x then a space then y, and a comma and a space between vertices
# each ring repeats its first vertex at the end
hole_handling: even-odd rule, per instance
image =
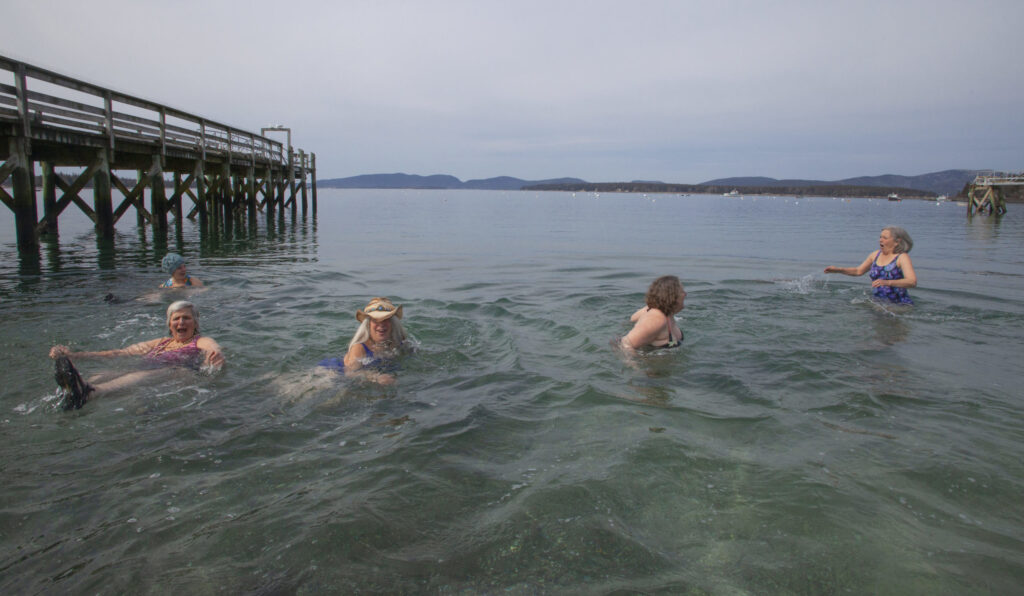
MULTIPOLYGON (((885 174, 881 176, 858 176, 843 180, 778 180, 765 176, 745 176, 733 178, 718 178, 708 180, 692 186, 721 187, 786 187, 805 188, 820 186, 871 186, 887 188, 913 188, 936 195, 954 196, 958 194, 974 177, 987 170, 943 170, 920 176, 901 176, 885 174)), ((465 182, 447 174, 420 176, 417 174, 362 174, 347 178, 329 178, 317 180, 317 185, 325 188, 441 188, 441 189, 474 189, 474 190, 520 190, 527 186, 540 185, 572 185, 589 184, 581 178, 551 178, 547 180, 523 180, 512 176, 497 176, 466 180, 465 182)), ((629 184, 664 184, 664 182, 634 180, 629 184)))

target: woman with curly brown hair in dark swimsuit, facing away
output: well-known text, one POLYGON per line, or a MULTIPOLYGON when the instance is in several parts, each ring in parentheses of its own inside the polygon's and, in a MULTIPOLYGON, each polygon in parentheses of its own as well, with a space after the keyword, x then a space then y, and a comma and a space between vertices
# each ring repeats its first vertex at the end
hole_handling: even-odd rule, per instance
POLYGON ((630 316, 633 330, 622 339, 622 346, 634 350, 643 346, 656 348, 678 347, 683 343, 683 332, 676 325, 674 315, 683 309, 686 291, 675 275, 663 275, 647 289, 646 306, 630 316))

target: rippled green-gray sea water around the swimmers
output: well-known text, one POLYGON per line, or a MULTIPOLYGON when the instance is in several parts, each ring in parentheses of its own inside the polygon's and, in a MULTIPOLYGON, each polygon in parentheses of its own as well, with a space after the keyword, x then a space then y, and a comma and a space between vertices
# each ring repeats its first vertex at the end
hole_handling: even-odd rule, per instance
POLYGON ((0 209, 2 593, 1024 586, 1024 206, 325 189, 114 250, 74 209, 38 259, 0 209), (911 308, 821 272, 889 224, 911 308), (166 332, 169 249, 227 368, 58 411, 49 346, 166 332), (684 346, 625 359, 666 273, 684 346), (420 344, 397 385, 316 375, 379 295, 420 344))

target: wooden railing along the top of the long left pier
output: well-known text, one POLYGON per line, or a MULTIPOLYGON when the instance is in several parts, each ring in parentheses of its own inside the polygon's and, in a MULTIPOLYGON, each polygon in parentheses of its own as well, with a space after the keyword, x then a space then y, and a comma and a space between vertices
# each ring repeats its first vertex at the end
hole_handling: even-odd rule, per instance
POLYGON ((223 156, 254 165, 288 165, 288 147, 253 132, 167 105, 53 73, 0 55, 0 121, 20 127, 26 138, 67 131, 101 139, 110 148, 119 142, 223 156), (2 79, 0 79, 2 81, 2 79), (45 132, 44 132, 45 131, 45 132))

